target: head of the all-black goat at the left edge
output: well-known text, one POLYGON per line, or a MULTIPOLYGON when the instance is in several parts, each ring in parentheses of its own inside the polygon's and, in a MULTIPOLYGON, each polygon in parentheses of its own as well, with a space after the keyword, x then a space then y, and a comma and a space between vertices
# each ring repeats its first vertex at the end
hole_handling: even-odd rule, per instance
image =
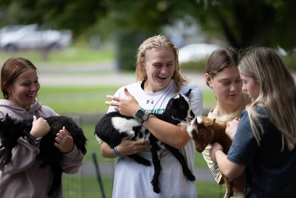
POLYGON ((9 144, 9 141, 15 136, 15 131, 12 128, 20 124, 21 122, 17 121, 17 119, 9 117, 8 113, 4 118, 0 118, 0 140, 2 146, 6 147, 9 144))

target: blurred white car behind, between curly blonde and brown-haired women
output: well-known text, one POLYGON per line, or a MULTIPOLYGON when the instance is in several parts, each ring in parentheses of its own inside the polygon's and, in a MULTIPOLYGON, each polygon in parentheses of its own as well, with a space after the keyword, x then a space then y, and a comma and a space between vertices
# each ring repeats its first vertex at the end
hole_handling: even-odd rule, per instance
POLYGON ((219 45, 194 43, 180 47, 179 63, 198 61, 211 55, 215 50, 220 49, 219 45))

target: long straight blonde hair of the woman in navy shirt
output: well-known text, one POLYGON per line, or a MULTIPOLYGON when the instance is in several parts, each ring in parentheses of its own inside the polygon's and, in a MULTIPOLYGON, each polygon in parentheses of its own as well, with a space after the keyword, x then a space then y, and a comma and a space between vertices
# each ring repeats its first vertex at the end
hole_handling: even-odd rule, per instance
POLYGON ((287 144, 290 151, 296 144, 296 86, 295 81, 281 58, 271 49, 257 47, 249 52, 239 62, 239 70, 252 77, 260 84, 258 98, 246 110, 249 114, 253 134, 260 146, 263 126, 256 112, 256 106, 266 110, 271 122, 281 132, 282 148, 287 144), (260 131, 257 127, 259 127, 260 131), (261 133, 261 134, 260 134, 261 133))

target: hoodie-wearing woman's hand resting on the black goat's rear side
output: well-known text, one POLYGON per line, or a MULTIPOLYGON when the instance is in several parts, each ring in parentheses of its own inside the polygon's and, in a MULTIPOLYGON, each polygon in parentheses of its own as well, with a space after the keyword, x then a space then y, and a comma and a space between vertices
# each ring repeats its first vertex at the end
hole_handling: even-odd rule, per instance
POLYGON ((74 141, 73 137, 66 130, 65 126, 62 130, 59 130, 57 137, 54 139, 54 146, 57 147, 63 153, 70 153, 74 150, 74 141))

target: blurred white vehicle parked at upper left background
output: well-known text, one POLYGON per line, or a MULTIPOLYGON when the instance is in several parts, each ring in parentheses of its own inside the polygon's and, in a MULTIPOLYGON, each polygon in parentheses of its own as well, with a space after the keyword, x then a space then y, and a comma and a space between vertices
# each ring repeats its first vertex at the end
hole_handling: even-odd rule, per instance
POLYGON ((5 26, 0 29, 0 48, 6 51, 20 49, 58 49, 72 42, 70 30, 40 30, 38 24, 5 26))

